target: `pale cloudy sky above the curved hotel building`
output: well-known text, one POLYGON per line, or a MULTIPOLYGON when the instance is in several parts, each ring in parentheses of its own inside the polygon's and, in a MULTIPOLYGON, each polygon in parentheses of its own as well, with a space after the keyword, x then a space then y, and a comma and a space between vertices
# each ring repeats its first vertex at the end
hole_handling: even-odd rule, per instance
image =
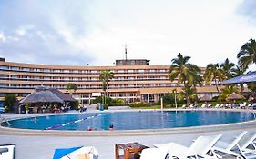
POLYGON ((0 0, 0 57, 47 65, 237 63, 256 38, 255 0, 0 0))

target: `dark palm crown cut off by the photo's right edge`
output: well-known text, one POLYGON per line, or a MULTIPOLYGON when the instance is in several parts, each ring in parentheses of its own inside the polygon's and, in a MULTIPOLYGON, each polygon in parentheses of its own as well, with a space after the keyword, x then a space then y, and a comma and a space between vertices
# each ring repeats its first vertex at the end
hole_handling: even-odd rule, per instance
POLYGON ((242 69, 247 69, 249 65, 256 64, 256 42, 250 39, 249 42, 241 46, 240 52, 237 54, 238 64, 242 69))

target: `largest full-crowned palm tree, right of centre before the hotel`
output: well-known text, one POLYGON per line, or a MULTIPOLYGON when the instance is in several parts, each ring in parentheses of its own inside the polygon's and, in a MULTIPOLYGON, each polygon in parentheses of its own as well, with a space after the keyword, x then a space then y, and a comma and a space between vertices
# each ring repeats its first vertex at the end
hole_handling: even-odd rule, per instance
MULTIPOLYGON (((189 63, 189 56, 183 56, 179 53, 178 58, 171 60, 172 65, 169 67, 169 80, 178 80, 178 84, 183 84, 184 87, 200 82, 200 68, 197 65, 189 63)), ((189 104, 189 94, 185 92, 187 105, 189 104)))

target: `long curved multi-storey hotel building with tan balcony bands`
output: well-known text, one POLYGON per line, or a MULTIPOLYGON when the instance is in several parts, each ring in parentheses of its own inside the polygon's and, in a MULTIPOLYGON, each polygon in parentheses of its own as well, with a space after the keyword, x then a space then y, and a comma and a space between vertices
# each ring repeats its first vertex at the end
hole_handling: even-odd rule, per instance
MULTIPOLYGON (((77 84, 73 96, 82 104, 92 104, 97 95, 103 94, 99 75, 103 70, 114 72, 108 82, 108 94, 128 103, 135 101, 157 102, 159 97, 173 89, 182 89, 182 84, 169 81, 169 65, 149 65, 149 60, 116 60, 112 66, 38 65, 6 62, 0 59, 0 101, 5 94, 15 94, 19 99, 26 97, 39 85, 54 87, 67 93, 67 84, 77 84)), ((201 75, 204 68, 200 67, 201 75)), ((214 96, 214 84, 197 87, 198 95, 214 96)))

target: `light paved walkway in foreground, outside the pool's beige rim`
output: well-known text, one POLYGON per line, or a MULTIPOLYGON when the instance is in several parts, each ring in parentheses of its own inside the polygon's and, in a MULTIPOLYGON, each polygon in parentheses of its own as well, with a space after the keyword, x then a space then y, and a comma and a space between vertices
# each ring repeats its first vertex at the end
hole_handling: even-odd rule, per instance
MULTIPOLYGON (((40 115, 40 114, 37 114, 40 115)), ((12 114, 6 115, 6 118, 14 117, 12 114)), ((22 115, 15 117, 23 117, 22 115)), ((223 134, 222 138, 231 141, 234 136, 242 131, 256 132, 256 126, 236 129, 223 130, 216 132, 190 132, 189 134, 161 134, 161 135, 137 135, 137 136, 29 136, 29 135, 10 135, 0 134, 0 144, 16 144, 16 159, 36 158, 51 159, 56 148, 67 148, 74 146, 93 145, 99 152, 100 159, 115 158, 115 144, 138 142, 152 146, 153 144, 166 144, 175 142, 189 146, 192 140, 200 135, 223 134)), ((0 130, 1 133, 1 130, 0 130)))

